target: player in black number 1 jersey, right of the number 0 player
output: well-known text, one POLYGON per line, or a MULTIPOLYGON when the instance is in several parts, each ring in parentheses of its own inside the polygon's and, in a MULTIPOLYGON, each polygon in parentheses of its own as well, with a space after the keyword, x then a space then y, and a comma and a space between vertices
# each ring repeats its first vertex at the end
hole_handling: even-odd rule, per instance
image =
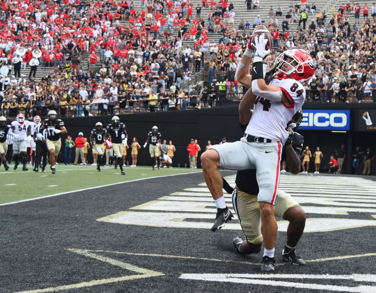
POLYGON ((120 119, 118 116, 114 116, 111 119, 112 123, 107 125, 106 127, 106 133, 104 134, 104 139, 107 139, 109 135, 111 135, 111 142, 112 142, 112 149, 114 150, 114 154, 116 158, 118 159, 116 164, 119 165, 121 170, 121 175, 125 175, 123 170, 123 160, 121 159, 123 157, 123 144, 122 144, 122 138, 121 135, 125 135, 125 144, 128 140, 128 134, 125 130, 124 123, 120 122, 120 119))

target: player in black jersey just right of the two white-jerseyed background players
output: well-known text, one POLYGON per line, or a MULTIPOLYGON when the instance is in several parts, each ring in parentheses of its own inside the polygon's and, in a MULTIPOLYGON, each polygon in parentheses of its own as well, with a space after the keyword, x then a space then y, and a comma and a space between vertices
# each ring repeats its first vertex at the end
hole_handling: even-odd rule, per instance
POLYGON ((46 144, 49 151, 49 163, 51 164, 52 174, 55 174, 55 160, 57 159, 61 149, 60 134, 67 134, 67 129, 64 126, 63 120, 56 119, 56 111, 48 111, 47 117, 48 118, 43 121, 42 129, 47 130, 46 144))

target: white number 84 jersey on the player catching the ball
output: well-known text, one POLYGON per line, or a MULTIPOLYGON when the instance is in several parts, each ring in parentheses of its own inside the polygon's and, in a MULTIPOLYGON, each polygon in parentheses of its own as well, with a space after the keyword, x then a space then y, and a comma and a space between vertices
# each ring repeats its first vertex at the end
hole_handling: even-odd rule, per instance
POLYGON ((294 105, 287 107, 282 102, 273 102, 258 96, 245 133, 278 140, 284 144, 288 137, 287 123, 302 108, 305 89, 300 82, 290 78, 282 80, 275 78, 270 84, 280 87, 288 99, 294 100, 294 105))

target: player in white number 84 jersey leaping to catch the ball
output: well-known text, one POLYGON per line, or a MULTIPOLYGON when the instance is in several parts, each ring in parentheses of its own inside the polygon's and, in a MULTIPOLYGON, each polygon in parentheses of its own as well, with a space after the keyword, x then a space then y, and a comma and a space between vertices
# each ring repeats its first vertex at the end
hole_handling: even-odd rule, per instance
POLYGON ((277 237, 274 204, 280 179, 282 146, 288 137, 286 125, 302 108, 305 101, 302 83, 312 77, 315 67, 312 57, 305 50, 284 51, 277 57, 273 67, 276 74, 271 82, 266 84, 262 62, 270 53, 270 50, 265 48, 266 44, 264 35, 255 36, 254 48, 248 45, 236 69, 237 81, 252 88, 254 93, 247 101, 248 109, 254 104, 254 111, 244 137, 240 141, 210 147, 201 155, 201 162, 205 181, 217 206, 212 231, 223 227, 233 216, 224 201, 223 181, 218 168, 256 169, 261 232, 265 247, 261 270, 271 271, 275 265, 274 246, 277 237), (249 64, 253 50, 255 57, 251 75, 249 64))

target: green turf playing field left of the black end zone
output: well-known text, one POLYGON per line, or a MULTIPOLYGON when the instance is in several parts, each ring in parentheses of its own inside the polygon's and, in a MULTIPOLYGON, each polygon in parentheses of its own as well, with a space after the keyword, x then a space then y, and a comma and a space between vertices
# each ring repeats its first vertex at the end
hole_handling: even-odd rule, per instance
POLYGON ((201 171, 189 168, 162 168, 153 171, 150 166, 138 166, 137 168, 125 167, 125 176, 122 176, 120 170, 115 170, 114 167, 102 167, 102 172, 99 173, 93 166, 60 164, 56 166, 55 175, 52 175, 49 165, 44 173, 30 171, 31 165, 28 165, 28 169, 29 171, 22 171, 22 166, 19 166, 14 171, 13 165, 10 165, 7 172, 0 171, 0 204, 129 180, 201 171))

